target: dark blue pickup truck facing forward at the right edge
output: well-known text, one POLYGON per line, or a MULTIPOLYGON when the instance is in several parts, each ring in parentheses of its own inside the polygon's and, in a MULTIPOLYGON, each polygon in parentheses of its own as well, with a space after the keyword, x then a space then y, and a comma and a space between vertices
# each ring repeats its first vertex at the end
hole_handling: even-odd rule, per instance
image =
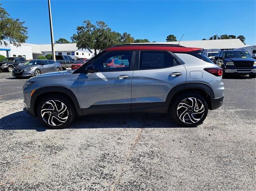
POLYGON ((249 75, 256 78, 256 60, 244 50, 220 51, 215 63, 223 69, 223 76, 228 74, 249 75))

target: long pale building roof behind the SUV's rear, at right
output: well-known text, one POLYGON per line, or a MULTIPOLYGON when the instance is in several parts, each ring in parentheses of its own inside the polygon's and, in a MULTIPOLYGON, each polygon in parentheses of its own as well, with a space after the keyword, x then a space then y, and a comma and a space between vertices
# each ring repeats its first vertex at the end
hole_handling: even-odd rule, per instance
MULTIPOLYGON (((157 44, 178 44, 179 41, 155 42, 157 44)), ((196 47, 203 49, 235 49, 246 45, 240 39, 220 39, 220 40, 192 40, 180 41, 180 45, 185 47, 196 47)))

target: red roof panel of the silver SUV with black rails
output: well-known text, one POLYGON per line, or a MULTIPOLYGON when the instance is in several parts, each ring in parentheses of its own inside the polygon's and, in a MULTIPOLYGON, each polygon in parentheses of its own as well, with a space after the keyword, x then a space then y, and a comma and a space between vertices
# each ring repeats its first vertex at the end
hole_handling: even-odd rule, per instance
POLYGON ((113 50, 166 50, 171 52, 191 52, 196 50, 201 50, 202 48, 190 48, 183 47, 180 45, 160 45, 160 44, 126 44, 126 45, 116 45, 106 49, 106 51, 113 50))

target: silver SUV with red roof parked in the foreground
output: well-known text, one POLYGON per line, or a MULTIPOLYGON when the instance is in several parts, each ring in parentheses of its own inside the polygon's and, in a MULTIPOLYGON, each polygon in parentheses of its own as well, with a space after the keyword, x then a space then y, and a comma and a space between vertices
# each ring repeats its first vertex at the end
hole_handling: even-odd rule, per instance
POLYGON ((50 128, 76 115, 169 113, 182 126, 202 124, 224 98, 222 69, 200 48, 129 44, 108 48, 75 71, 28 79, 25 110, 50 128))

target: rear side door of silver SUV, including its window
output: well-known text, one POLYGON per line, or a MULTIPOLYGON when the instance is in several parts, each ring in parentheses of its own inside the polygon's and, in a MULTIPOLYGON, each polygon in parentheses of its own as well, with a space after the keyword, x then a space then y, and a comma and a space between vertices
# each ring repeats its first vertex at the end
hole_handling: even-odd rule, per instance
POLYGON ((171 89, 186 82, 186 69, 168 51, 137 51, 132 76, 132 112, 166 112, 171 89))

